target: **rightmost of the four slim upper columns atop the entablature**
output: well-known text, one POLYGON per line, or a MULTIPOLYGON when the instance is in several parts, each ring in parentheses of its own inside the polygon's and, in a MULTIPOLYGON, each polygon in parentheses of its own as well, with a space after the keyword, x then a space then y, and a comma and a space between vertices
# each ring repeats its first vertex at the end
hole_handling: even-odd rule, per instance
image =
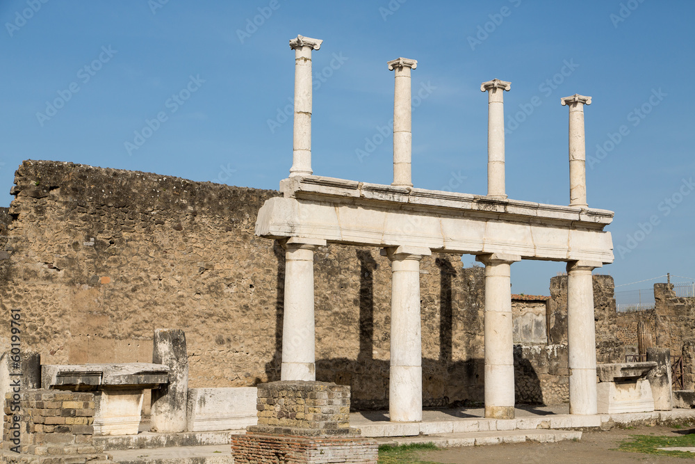
POLYGON ((575 93, 560 99, 562 106, 569 106, 569 205, 587 205, 587 150, 584 141, 584 105, 591 104, 591 97, 575 93))

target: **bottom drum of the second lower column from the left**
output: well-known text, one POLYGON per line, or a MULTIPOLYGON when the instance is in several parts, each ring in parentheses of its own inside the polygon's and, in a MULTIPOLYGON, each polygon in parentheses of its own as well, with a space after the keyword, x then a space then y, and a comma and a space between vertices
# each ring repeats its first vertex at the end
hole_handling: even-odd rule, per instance
POLYGON ((389 415, 391 422, 422 422, 423 368, 391 366, 389 415))

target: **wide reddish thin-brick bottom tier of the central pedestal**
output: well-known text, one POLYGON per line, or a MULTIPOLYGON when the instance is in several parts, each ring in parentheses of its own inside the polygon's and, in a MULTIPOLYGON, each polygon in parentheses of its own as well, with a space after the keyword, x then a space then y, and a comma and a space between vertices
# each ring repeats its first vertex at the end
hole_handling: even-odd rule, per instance
POLYGON ((377 464, 379 445, 366 438, 306 437, 247 432, 232 435, 236 464, 365 463, 377 464))

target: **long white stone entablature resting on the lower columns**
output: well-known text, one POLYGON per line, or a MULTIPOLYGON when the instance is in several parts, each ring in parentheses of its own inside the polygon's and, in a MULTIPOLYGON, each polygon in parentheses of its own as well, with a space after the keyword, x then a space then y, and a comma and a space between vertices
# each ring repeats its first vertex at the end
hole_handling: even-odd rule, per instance
POLYGON ((613 261, 613 213, 480 195, 292 177, 259 211, 256 234, 446 253, 507 253, 557 261, 613 261))

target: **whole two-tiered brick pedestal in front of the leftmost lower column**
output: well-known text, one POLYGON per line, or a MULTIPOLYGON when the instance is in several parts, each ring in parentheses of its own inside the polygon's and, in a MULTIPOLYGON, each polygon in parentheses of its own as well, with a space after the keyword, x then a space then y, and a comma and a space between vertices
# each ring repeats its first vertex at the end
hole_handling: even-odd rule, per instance
POLYGON ((350 429, 350 387, 280 381, 258 386, 258 425, 234 435, 237 464, 376 463, 378 446, 350 429))

